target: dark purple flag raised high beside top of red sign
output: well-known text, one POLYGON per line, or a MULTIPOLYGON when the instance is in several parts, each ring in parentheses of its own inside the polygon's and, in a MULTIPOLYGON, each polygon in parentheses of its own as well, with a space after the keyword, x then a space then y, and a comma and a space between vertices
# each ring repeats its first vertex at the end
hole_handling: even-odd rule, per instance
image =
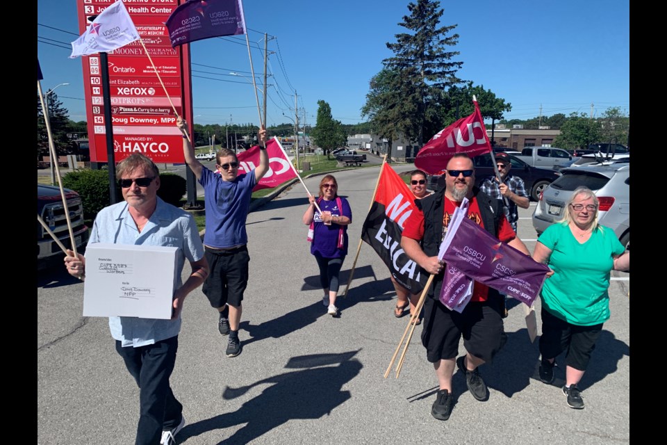
POLYGON ((172 48, 222 35, 245 34, 241 0, 190 0, 174 9, 167 22, 172 48))

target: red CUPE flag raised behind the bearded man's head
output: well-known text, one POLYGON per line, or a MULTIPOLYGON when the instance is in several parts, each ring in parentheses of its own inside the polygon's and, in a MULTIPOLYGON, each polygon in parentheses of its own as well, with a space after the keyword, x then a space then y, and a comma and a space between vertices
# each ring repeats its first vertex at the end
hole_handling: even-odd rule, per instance
POLYGON ((443 129, 420 149, 415 156, 415 167, 431 175, 445 170, 447 162, 456 153, 467 153, 471 158, 491 152, 491 141, 486 135, 484 120, 477 101, 475 111, 443 129))

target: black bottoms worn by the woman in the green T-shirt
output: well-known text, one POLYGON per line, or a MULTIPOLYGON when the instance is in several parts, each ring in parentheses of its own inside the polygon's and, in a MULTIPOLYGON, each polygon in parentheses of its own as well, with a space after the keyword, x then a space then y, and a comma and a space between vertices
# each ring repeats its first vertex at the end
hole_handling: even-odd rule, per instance
POLYGON ((602 333, 602 323, 592 326, 579 326, 561 320, 542 307, 542 335, 540 354, 543 358, 558 357, 567 350, 565 362, 579 371, 586 371, 595 342, 602 333))

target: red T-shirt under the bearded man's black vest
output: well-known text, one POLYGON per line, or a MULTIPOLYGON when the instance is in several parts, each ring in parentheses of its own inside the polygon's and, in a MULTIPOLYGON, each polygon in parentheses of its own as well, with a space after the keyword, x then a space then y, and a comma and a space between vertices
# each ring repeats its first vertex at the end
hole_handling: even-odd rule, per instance
MULTIPOLYGON (((445 214, 443 215, 443 227, 448 227, 450 225, 450 220, 454 214, 454 209, 461 205, 461 202, 455 202, 445 198, 445 214)), ((479 205, 477 204, 477 198, 472 197, 470 200, 470 206, 468 207, 468 218, 473 220, 481 227, 484 227, 484 223, 481 221, 481 214, 479 213, 479 205)), ((420 211, 413 211, 411 215, 405 222, 403 227, 403 232, 401 236, 406 236, 415 241, 422 241, 424 238, 424 213, 420 211)), ((504 214, 500 216, 500 224, 498 225, 497 238, 503 243, 507 243, 516 238, 516 233, 512 229, 512 226, 507 222, 504 214)), ((488 286, 475 282, 475 286, 472 288, 472 298, 470 301, 486 301, 488 296, 488 286)))

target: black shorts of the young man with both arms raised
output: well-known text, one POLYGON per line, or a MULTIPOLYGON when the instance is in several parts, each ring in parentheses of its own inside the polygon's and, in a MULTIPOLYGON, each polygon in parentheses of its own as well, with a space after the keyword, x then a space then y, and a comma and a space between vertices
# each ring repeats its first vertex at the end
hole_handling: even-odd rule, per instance
POLYGON ((234 307, 241 305, 243 292, 248 285, 248 263, 250 255, 247 246, 231 250, 206 248, 204 252, 211 273, 201 286, 211 306, 223 307, 226 303, 234 307))

